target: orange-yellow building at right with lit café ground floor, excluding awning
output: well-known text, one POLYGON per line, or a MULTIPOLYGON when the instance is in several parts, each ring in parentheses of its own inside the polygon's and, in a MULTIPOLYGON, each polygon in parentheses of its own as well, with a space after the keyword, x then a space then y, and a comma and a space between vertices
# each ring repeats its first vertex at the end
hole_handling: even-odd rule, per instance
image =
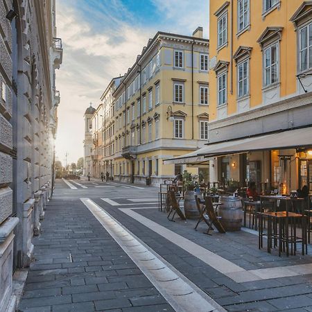
MULTIPOLYGON (((311 1, 210 0, 209 18, 209 144, 310 131, 311 1)), ((311 166, 302 173, 311 176, 312 191, 311 143, 250 146, 251 153, 240 155, 233 147, 211 160, 210 180, 255 180, 262 190, 284 184, 290 191, 306 184, 300 168, 311 166)))

